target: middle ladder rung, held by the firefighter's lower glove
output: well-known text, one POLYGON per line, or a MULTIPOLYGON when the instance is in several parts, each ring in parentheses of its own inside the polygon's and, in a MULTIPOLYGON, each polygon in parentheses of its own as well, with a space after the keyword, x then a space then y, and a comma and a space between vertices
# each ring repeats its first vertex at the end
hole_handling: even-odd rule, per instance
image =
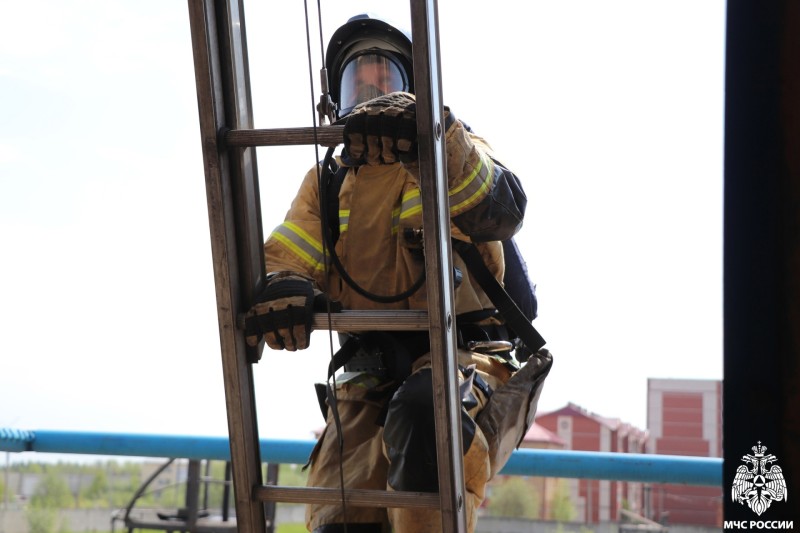
POLYGON ((417 331, 427 330, 428 328, 427 311, 375 310, 314 314, 314 329, 331 329, 333 331, 417 331))

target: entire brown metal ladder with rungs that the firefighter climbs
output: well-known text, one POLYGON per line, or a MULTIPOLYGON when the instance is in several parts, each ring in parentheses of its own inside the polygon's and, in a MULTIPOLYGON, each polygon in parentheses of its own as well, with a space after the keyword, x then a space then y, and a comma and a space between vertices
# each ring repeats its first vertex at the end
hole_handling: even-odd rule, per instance
MULTIPOLYGON (((411 0, 414 79, 425 230, 428 312, 346 311, 331 329, 428 329, 431 338, 439 493, 346 490, 349 506, 440 509, 442 531, 466 530, 450 217, 445 177, 435 0, 411 0)), ((340 126, 254 129, 243 0, 189 0, 212 260, 239 530, 265 533, 264 503, 341 502, 339 489, 264 485, 253 363, 239 315, 264 283, 263 231, 255 147, 341 142, 340 126)), ((316 316, 315 329, 328 329, 316 316)))

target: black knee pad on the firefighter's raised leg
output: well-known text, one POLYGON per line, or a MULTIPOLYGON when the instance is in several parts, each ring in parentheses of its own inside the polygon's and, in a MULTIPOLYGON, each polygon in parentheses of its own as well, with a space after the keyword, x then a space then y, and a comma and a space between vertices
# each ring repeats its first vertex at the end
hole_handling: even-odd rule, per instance
MULTIPOLYGON (((464 453, 475 436, 475 421, 461 409, 464 453)), ((389 402, 383 441, 389 458, 389 485, 395 490, 437 492, 436 423, 433 377, 422 369, 403 382, 389 402)))

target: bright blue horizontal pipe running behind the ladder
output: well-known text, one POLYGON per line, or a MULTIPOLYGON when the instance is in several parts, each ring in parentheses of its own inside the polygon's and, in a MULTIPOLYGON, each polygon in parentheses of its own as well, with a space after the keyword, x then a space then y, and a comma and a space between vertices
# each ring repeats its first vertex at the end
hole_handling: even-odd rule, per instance
MULTIPOLYGON (((314 441, 261 440, 267 463, 305 464, 314 441)), ((0 451, 230 459, 227 437, 0 428, 0 451)), ((519 449, 501 474, 722 486, 722 459, 637 453, 519 449)))

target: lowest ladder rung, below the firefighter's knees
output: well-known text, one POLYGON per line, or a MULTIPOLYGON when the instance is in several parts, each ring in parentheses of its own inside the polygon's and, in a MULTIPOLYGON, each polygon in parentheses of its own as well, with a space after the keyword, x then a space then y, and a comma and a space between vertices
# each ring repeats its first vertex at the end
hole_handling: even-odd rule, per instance
MULTIPOLYGON (((342 491, 319 487, 279 487, 262 485, 253 493, 260 501, 289 503, 341 504, 342 491)), ((353 507, 413 507, 439 509, 438 492, 395 492, 384 490, 345 489, 344 501, 353 507)))

